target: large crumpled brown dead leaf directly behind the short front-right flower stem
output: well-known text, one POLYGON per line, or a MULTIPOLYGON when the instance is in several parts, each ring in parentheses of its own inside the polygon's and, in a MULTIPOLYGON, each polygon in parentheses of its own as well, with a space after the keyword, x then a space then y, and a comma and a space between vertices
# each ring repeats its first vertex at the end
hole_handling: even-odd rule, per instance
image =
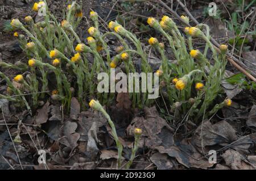
POLYGON ((131 124, 127 128, 127 134, 134 136, 134 129, 142 129, 142 137, 139 145, 145 145, 148 148, 154 149, 156 146, 164 146, 164 148, 170 148, 174 145, 174 130, 166 123, 166 120, 162 119, 158 115, 158 111, 155 107, 144 108, 146 113, 144 117, 135 117, 131 124))

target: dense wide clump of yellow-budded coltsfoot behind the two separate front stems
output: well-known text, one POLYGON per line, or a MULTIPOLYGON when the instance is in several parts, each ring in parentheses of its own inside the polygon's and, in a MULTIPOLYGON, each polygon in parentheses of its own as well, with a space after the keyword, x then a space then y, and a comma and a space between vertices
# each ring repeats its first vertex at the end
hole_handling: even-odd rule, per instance
MULTIPOLYGON (((102 33, 97 12, 90 12, 93 24, 88 28, 90 36, 84 42, 76 33, 82 20, 82 9, 76 2, 68 5, 62 20, 57 20, 51 14, 46 1, 35 3, 32 10, 40 15, 44 12, 43 20, 34 22, 29 15, 24 17, 24 24, 18 19, 11 20, 10 25, 15 30, 14 36, 27 54, 28 63, 26 65, 22 62, 19 64, 1 62, 1 68, 13 68, 20 72, 14 81, 22 85, 19 88, 15 87, 5 74, 0 73, 0 76, 6 79, 7 92, 16 95, 1 95, 1 98, 24 105, 28 110, 31 110, 31 106, 32 110, 35 110, 39 100, 49 98, 47 96, 51 95, 49 92, 56 90, 51 98, 59 100, 67 110, 72 96, 78 98, 81 108, 85 110, 88 108, 86 102, 92 98, 104 105, 112 104, 114 101, 114 92, 97 91, 96 77, 99 73, 110 75, 110 70, 121 64, 126 74, 137 71, 152 72, 148 63, 148 52, 142 46, 143 40, 139 40, 134 33, 126 30, 118 22, 109 22, 108 27, 111 31, 102 33), (108 36, 114 36, 118 40, 114 51, 107 44, 108 36), (92 63, 88 61, 88 57, 93 57, 92 63), (135 68, 133 61, 135 58, 141 59, 140 70, 135 68), (55 74, 55 87, 49 86, 49 73, 55 74), (71 90, 74 89, 72 94, 71 90), (21 94, 24 91, 31 96, 25 98, 21 94)), ((189 23, 187 16, 181 18, 189 23)), ((214 99, 221 91, 220 84, 224 77, 228 47, 221 45, 221 53, 216 52, 210 42, 209 27, 199 24, 196 27, 185 27, 184 33, 181 33, 168 16, 163 16, 160 22, 155 18, 148 18, 147 23, 159 33, 159 36, 167 39, 167 43, 164 43, 159 42, 155 37, 148 37, 148 44, 162 59, 162 65, 155 73, 160 79, 164 107, 170 107, 170 110, 175 110, 181 117, 187 115, 199 121, 223 106, 230 106, 232 102, 229 99, 213 105, 214 99), (205 41, 204 52, 193 46, 193 37, 205 41), (166 48, 171 49, 171 54, 166 53, 166 48), (212 60, 207 58, 209 52, 212 60)), ((140 83, 145 85, 142 81, 140 83)), ((136 92, 137 87, 134 86, 134 82, 128 84, 133 84, 133 91, 130 91, 129 95, 134 107, 142 108, 155 103, 154 100, 148 99, 148 92, 141 91, 142 86, 139 92, 136 92)), ((160 103, 163 102, 162 100, 159 98, 160 103)))

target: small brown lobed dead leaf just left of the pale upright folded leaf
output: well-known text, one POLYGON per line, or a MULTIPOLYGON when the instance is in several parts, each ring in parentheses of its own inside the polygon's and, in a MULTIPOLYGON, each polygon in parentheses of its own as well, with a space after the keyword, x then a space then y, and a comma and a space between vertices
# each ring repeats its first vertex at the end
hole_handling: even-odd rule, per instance
POLYGON ((66 121, 62 129, 62 137, 60 143, 68 146, 69 148, 76 148, 77 141, 80 138, 80 134, 76 133, 77 124, 71 121, 66 121))

